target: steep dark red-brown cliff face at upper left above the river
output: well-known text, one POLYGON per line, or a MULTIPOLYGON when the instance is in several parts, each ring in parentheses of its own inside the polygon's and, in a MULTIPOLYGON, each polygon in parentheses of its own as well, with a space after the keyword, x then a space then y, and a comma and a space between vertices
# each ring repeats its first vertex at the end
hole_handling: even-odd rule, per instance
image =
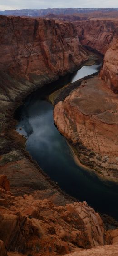
POLYGON ((0 16, 0 44, 0 70, 33 83, 72 72, 88 57, 75 26, 54 20, 0 16))

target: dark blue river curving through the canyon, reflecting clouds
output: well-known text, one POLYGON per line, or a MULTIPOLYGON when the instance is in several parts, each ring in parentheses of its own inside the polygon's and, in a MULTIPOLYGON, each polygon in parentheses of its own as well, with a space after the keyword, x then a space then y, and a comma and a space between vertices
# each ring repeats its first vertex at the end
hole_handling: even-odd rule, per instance
POLYGON ((84 66, 33 92, 15 112, 16 129, 27 138, 26 149, 32 158, 63 191, 118 219, 118 186, 76 165, 65 138, 54 125, 53 106, 46 100, 54 90, 98 70, 99 65, 84 66))

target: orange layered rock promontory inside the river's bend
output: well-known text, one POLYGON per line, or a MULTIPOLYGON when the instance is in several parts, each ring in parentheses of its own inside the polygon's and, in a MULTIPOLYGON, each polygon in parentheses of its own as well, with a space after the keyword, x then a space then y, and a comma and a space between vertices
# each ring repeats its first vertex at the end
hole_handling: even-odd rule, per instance
POLYGON ((118 97, 104 81, 83 80, 55 105, 54 121, 83 165, 118 182, 118 97))

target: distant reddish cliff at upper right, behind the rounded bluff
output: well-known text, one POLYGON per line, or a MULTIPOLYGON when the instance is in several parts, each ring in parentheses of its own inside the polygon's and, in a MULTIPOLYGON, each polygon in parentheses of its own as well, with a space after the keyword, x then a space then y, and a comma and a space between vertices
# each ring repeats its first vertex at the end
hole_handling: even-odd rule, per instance
POLYGON ((118 19, 90 19, 74 22, 82 45, 105 54, 111 42, 118 38, 118 19))

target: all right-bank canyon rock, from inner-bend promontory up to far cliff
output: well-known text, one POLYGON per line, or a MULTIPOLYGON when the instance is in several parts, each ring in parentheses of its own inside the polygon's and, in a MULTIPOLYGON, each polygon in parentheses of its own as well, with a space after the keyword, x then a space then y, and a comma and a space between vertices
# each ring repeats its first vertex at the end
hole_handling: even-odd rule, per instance
POLYGON ((75 158, 79 156, 80 162, 99 176, 118 182, 118 101, 112 93, 118 93, 118 21, 75 24, 82 45, 105 53, 105 57, 99 76, 82 81, 69 95, 66 90, 61 92, 63 100, 55 105, 54 121, 73 144, 75 158))

